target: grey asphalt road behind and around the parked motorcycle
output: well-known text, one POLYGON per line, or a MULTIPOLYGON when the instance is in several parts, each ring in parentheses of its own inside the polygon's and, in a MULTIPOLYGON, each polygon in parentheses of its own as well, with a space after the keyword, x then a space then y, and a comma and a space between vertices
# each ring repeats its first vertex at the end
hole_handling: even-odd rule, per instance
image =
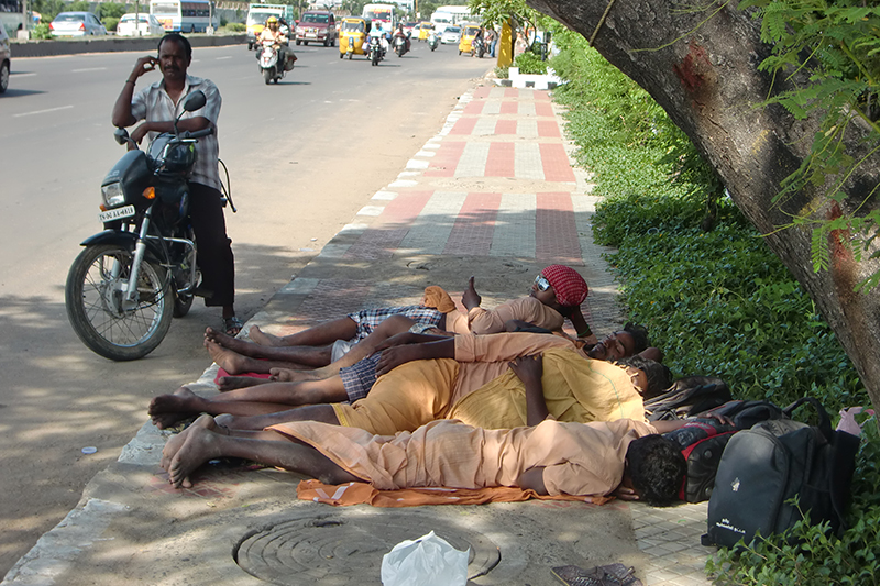
MULTIPOLYGON (((378 67, 333 47, 294 48, 297 66, 277 86, 264 85, 245 46, 197 48, 190 67, 223 97, 220 156, 239 207, 227 222, 244 319, 403 170, 493 65, 425 43, 378 67)), ((67 322, 65 278, 79 243, 101 229, 100 181, 123 154, 110 112, 139 56, 13 55, 0 98, 0 576, 118 457, 148 399, 210 364, 201 339, 220 314, 200 300, 133 363, 91 353, 67 322)))

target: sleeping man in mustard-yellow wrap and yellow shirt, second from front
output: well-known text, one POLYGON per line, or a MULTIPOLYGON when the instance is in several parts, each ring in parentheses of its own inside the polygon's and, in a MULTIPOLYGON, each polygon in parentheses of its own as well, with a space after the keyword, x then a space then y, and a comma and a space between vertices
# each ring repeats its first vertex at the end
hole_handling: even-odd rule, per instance
POLYGON ((669 369, 662 364, 642 361, 627 371, 587 357, 561 336, 460 335, 383 351, 377 364, 381 376, 370 394, 353 405, 306 405, 283 411, 290 391, 279 392, 276 384, 238 389, 210 400, 183 387, 175 395, 153 399, 150 411, 160 428, 208 412, 241 416, 230 425, 251 430, 315 420, 393 434, 443 418, 508 429, 525 424, 526 412, 525 389, 507 372, 508 361, 541 351, 550 410, 563 421, 644 420, 642 394, 650 397, 670 384, 669 369), (239 397, 245 391, 246 398, 239 397))

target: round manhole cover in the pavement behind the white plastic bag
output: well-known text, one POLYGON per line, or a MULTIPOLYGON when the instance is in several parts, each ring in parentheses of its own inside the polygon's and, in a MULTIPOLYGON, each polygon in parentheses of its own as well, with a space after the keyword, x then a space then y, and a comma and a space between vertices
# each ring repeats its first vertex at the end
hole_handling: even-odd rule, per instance
POLYGON ((387 510, 375 519, 331 513, 283 521, 245 535, 234 555, 242 570, 272 584, 380 584, 382 556, 431 530, 458 550, 471 549, 469 578, 487 574, 501 560, 485 535, 387 510))

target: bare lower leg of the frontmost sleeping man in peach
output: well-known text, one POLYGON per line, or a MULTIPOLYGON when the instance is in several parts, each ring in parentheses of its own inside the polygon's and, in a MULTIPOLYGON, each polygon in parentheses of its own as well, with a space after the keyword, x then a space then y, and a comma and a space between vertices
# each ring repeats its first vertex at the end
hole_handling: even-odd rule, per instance
POLYGON ((209 460, 223 456, 253 460, 306 474, 328 484, 362 480, 314 447, 292 442, 278 433, 257 432, 252 436, 240 433, 226 435, 217 433, 216 423, 208 416, 202 416, 197 423, 167 462, 168 480, 177 488, 191 486, 190 473, 209 460))

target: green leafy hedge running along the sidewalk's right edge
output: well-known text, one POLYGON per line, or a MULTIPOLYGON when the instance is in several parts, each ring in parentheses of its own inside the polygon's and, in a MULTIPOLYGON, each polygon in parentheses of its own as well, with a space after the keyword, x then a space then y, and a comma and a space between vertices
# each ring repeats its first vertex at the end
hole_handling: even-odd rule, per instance
MULTIPOLYGON (((829 412, 870 405, 810 297, 726 196, 688 137, 576 33, 559 30, 550 66, 565 80, 578 161, 603 199, 593 221, 620 280, 629 319, 645 324, 678 376, 716 375, 737 398, 787 405, 818 398, 829 412)), ((799 526, 796 545, 767 541, 707 564, 719 584, 877 584, 880 436, 858 457, 851 529, 843 539, 799 526)))

